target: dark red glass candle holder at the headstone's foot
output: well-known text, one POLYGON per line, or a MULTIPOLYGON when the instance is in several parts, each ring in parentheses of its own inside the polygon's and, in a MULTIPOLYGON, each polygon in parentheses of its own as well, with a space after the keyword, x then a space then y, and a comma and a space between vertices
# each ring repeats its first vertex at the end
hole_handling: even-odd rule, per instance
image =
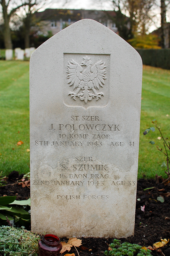
POLYGON ((61 250, 60 238, 55 235, 45 235, 38 242, 39 256, 57 256, 61 250))

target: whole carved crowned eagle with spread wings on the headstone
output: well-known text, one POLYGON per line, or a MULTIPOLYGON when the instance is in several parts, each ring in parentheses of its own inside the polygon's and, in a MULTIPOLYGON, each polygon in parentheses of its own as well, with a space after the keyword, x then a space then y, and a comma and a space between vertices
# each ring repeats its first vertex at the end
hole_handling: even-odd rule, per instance
POLYGON ((68 61, 68 84, 73 86, 73 91, 75 90, 75 92, 69 92, 68 95, 71 95, 74 100, 77 98, 84 100, 86 104, 88 100, 91 101, 93 98, 98 100, 104 96, 102 92, 97 92, 97 90, 104 85, 106 66, 102 60, 93 65, 91 58, 87 55, 83 59, 81 64, 73 59, 68 61))

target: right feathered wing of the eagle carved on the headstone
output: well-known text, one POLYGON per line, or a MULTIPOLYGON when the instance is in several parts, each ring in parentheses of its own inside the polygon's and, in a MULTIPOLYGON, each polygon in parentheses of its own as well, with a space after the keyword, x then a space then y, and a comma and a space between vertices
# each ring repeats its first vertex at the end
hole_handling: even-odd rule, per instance
POLYGON ((90 75, 90 80, 92 81, 92 84, 95 86, 96 89, 99 90, 99 85, 103 87, 104 79, 106 79, 106 66, 105 62, 102 60, 96 62, 91 67, 92 74, 90 75))

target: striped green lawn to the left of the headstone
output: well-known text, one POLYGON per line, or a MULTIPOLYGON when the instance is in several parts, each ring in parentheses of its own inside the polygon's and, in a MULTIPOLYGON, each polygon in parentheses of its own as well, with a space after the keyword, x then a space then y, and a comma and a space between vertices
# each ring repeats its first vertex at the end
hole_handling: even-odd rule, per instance
POLYGON ((29 172, 29 62, 0 61, 0 171, 29 172), (23 144, 18 146, 17 142, 23 144))

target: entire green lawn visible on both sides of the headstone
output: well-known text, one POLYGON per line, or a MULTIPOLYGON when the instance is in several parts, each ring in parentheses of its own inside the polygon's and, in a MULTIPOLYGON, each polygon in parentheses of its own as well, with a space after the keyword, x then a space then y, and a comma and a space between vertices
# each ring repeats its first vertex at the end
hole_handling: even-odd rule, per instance
MULTIPOLYGON (((0 171, 29 172, 29 62, 0 61, 0 171), (22 145, 17 145, 22 141, 22 145)), ((164 155, 156 149, 158 131, 143 135, 153 119, 170 137, 170 70, 143 67, 138 177, 163 175, 164 155), (168 116, 167 116, 168 115, 168 116), (155 141, 151 145, 149 141, 155 141)))

